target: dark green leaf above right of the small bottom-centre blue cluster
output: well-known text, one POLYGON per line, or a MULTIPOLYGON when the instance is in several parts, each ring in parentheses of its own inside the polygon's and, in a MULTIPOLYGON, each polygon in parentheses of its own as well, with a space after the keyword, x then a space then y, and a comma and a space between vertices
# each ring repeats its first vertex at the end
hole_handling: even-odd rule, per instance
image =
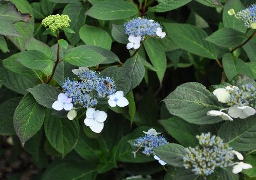
POLYGON ((159 123, 182 146, 195 147, 198 144, 196 139, 196 135, 200 134, 198 125, 188 123, 179 117, 170 117, 167 120, 159 121, 159 123))

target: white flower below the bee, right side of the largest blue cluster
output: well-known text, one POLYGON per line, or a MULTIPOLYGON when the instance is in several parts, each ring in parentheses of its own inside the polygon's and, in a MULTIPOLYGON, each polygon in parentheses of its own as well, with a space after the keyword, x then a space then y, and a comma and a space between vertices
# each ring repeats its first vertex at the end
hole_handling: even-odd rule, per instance
POLYGON ((109 95, 108 104, 111 107, 115 107, 116 105, 119 107, 124 107, 129 104, 128 100, 123 96, 122 91, 117 91, 114 94, 109 95))

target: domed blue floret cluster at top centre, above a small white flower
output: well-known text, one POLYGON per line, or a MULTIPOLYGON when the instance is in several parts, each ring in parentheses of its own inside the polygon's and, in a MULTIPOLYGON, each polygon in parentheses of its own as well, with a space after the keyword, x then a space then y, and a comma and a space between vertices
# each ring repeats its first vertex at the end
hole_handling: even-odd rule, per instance
POLYGON ((133 18, 129 22, 124 23, 125 33, 134 36, 141 36, 142 39, 146 36, 156 36, 157 27, 161 25, 154 20, 147 18, 133 18))

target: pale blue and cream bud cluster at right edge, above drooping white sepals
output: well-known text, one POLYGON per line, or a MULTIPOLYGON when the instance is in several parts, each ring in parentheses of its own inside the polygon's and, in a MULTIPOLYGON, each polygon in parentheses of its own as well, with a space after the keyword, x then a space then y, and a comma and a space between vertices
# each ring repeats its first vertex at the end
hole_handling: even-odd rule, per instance
POLYGON ((236 106, 250 106, 256 109, 256 87, 252 84, 242 85, 239 89, 230 91, 230 100, 227 105, 230 107, 236 106))

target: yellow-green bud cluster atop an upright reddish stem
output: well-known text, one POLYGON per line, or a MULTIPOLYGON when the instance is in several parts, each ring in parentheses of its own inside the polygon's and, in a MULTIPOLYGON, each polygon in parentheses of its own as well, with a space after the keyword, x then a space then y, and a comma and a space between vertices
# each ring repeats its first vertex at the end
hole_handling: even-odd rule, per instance
POLYGON ((69 27, 70 26, 70 17, 67 15, 50 15, 42 20, 42 24, 47 27, 52 32, 56 32, 56 30, 61 29, 62 27, 69 27))

